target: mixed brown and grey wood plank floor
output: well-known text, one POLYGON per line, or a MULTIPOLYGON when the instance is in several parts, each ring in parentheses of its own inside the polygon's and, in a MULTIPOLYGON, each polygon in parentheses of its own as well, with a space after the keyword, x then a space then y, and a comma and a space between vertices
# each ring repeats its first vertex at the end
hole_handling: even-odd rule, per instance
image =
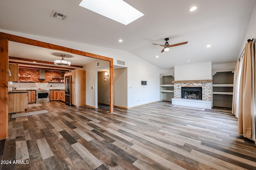
POLYGON ((50 113, 9 115, 1 170, 256 170, 256 146, 230 110, 158 102, 110 114, 48 102, 28 111, 43 109, 50 113))

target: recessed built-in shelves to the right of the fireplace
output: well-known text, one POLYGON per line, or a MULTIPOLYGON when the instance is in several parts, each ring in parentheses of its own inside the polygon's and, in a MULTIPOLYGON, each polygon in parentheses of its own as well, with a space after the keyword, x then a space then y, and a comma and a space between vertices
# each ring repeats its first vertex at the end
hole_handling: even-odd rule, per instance
POLYGON ((212 76, 213 107, 232 108, 234 73, 217 72, 212 76))

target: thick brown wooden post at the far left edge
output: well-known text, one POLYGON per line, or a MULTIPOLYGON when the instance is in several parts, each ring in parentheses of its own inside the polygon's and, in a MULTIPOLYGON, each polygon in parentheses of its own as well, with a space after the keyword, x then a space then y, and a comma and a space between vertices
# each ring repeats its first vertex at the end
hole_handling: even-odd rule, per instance
POLYGON ((8 138, 8 39, 0 39, 0 140, 8 138))

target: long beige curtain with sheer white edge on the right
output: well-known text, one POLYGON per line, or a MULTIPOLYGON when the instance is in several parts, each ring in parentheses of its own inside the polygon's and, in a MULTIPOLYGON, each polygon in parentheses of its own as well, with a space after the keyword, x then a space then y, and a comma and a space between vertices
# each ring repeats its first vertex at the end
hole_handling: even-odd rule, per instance
POLYGON ((234 80, 234 114, 238 113, 238 133, 244 137, 255 139, 255 44, 253 41, 246 43, 244 58, 238 68, 237 80, 234 80), (239 86, 238 86, 239 85, 239 86), (237 89, 236 89, 237 88, 237 89))

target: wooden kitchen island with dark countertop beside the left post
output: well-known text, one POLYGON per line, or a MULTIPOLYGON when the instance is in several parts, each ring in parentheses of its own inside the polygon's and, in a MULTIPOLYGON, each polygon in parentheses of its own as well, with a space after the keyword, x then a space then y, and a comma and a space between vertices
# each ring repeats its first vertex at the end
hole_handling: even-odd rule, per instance
POLYGON ((8 113, 25 111, 28 108, 28 91, 14 90, 8 92, 8 113))

